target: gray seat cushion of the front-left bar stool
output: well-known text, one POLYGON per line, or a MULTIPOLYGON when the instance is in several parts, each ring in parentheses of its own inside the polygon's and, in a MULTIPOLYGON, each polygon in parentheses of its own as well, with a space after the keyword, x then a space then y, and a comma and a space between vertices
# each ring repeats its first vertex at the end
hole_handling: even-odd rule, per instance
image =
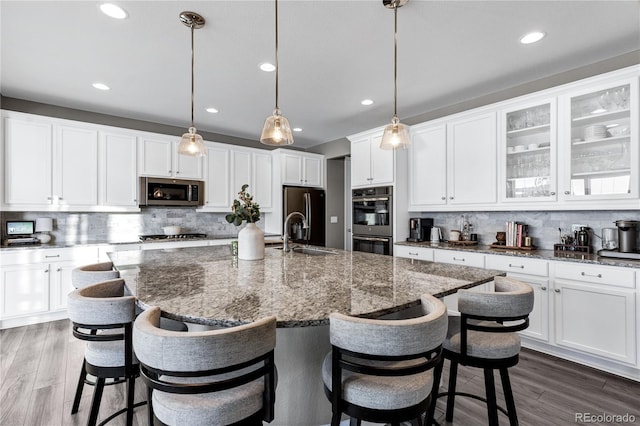
MULTIPOLYGON (((248 369, 245 369, 249 371, 248 369)), ((240 370, 244 371, 244 370, 240 370)), ((237 374, 234 374, 237 375, 237 374)), ((215 377, 174 377, 174 383, 219 381, 231 375, 215 377)), ((166 379, 160 376, 160 379, 166 379)), ((170 425, 227 425, 257 413, 263 406, 264 379, 220 392, 180 395, 159 390, 153 392, 153 411, 158 419, 170 425)))

